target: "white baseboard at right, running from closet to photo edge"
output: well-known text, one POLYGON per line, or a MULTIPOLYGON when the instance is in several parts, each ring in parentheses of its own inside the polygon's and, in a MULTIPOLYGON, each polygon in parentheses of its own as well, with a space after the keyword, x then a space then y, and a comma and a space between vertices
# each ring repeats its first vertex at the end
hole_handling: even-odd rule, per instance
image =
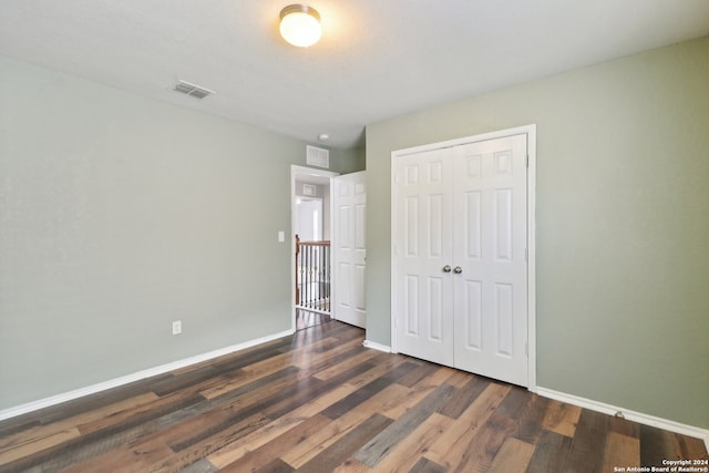
POLYGON ((651 425, 682 435, 689 435, 705 441, 709 451, 709 430, 693 425, 682 424, 680 422, 670 421, 668 419, 656 418, 655 415, 635 412, 617 405, 606 404, 604 402, 594 401, 577 395, 567 394, 565 392, 554 391, 546 388, 537 387, 536 393, 545 398, 555 399, 566 402, 567 404, 578 405, 579 408, 590 409, 592 411, 603 412, 604 414, 615 415, 620 412, 626 420, 638 422, 645 425, 651 425))

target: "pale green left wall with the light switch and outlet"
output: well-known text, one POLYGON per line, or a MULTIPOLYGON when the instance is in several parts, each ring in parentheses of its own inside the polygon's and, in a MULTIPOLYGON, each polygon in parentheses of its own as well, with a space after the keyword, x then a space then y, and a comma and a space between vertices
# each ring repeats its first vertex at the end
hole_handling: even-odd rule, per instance
POLYGON ((0 410, 290 329, 277 234, 305 155, 0 58, 0 410))

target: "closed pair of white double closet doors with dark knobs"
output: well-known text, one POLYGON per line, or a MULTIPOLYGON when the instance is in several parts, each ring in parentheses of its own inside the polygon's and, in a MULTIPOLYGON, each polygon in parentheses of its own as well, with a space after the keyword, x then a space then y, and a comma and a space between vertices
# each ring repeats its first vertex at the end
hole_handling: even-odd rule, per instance
POLYGON ((534 383, 528 137, 533 126, 392 153, 393 351, 534 383))

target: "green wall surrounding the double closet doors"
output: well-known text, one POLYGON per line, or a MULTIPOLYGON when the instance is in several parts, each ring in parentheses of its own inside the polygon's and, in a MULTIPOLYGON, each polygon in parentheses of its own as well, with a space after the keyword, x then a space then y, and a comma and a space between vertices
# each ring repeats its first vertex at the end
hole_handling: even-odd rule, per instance
POLYGON ((703 38, 368 126, 367 338, 391 152, 536 124, 537 384, 709 428, 708 84, 703 38))

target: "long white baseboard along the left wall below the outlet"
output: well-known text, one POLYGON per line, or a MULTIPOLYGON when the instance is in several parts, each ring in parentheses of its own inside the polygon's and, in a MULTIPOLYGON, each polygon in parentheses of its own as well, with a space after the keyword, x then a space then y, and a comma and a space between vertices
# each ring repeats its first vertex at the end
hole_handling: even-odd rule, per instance
POLYGON ((233 353, 235 351, 244 350, 246 348, 254 347, 256 345, 265 343, 267 341, 276 340, 281 337, 292 335, 295 330, 286 330, 279 333, 269 335, 266 337, 248 340, 243 343, 233 345, 230 347, 222 348, 218 350, 209 351, 207 353, 197 354, 183 360, 173 361, 172 363, 161 364, 160 367, 148 368, 146 370, 138 371, 136 373, 127 374, 121 378, 115 378, 109 381, 100 382, 97 384, 88 385, 73 391, 64 392, 61 394, 52 395, 50 398, 40 399, 38 401, 28 402, 27 404, 17 405, 13 408, 4 409, 0 411, 0 421, 14 418, 17 415, 25 414, 28 412, 37 411, 39 409, 49 408, 51 405, 60 404, 62 402, 72 401, 74 399, 82 398, 89 394, 95 394, 96 392, 105 391, 107 389, 117 388, 131 382, 140 381, 145 378, 163 374, 169 371, 174 371, 181 368, 188 367, 191 364, 208 361, 214 358, 223 357, 225 354, 233 353))

